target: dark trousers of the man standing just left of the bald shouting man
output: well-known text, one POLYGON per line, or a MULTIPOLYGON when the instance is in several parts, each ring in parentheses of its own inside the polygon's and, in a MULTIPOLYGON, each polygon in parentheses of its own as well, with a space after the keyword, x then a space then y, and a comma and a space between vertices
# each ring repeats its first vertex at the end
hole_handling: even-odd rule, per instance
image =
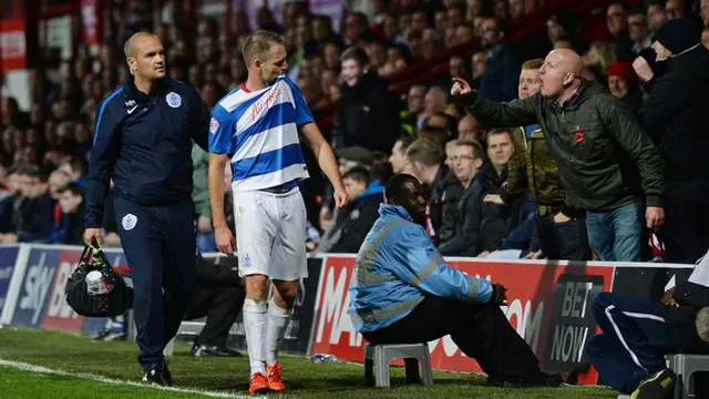
POLYGON ((536 217, 536 236, 547 259, 590 260, 586 218, 564 223, 554 222, 552 215, 536 217))

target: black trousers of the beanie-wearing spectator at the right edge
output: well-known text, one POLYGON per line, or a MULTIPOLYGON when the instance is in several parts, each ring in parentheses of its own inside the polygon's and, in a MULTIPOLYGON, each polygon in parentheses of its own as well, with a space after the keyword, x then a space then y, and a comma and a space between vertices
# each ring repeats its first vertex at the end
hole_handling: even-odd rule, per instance
POLYGON ((668 181, 664 201, 665 260, 693 264, 709 248, 709 182, 668 181))

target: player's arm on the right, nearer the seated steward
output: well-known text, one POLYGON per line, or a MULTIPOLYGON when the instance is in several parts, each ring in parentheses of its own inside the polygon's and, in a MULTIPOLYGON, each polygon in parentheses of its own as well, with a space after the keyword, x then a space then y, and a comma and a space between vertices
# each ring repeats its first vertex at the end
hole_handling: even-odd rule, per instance
POLYGON ((349 202, 347 193, 345 192, 345 183, 342 183, 342 176, 337 164, 337 157, 330 144, 322 136, 320 129, 315 124, 315 119, 310 112, 310 108, 306 102, 306 98, 298 89, 298 86, 290 80, 286 79, 286 82, 292 91, 292 96, 296 106, 296 124, 301 129, 302 135, 308 141, 310 149, 318 158, 318 164, 326 176, 332 183, 335 187, 335 204, 338 207, 343 207, 349 202))

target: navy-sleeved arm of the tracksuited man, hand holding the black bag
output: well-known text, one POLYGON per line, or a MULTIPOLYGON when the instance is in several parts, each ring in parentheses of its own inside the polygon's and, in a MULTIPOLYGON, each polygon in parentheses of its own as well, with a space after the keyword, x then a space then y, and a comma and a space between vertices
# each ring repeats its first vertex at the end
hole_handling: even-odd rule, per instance
POLYGON ((120 102, 120 92, 109 95, 96 109, 96 125, 93 134, 93 146, 89 160, 89 182, 86 185, 86 205, 84 215, 84 243, 92 245, 96 241, 103 244, 101 222, 103 204, 109 194, 113 166, 119 155, 119 137, 122 115, 114 103, 120 102))

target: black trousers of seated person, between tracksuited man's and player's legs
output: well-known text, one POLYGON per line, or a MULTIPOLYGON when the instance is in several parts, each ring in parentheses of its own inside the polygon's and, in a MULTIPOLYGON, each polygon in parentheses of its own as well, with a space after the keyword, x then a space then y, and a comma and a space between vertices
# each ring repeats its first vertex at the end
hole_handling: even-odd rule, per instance
POLYGON ((199 284, 185 320, 207 317, 196 345, 226 347, 229 328, 242 311, 246 294, 238 285, 199 284))

